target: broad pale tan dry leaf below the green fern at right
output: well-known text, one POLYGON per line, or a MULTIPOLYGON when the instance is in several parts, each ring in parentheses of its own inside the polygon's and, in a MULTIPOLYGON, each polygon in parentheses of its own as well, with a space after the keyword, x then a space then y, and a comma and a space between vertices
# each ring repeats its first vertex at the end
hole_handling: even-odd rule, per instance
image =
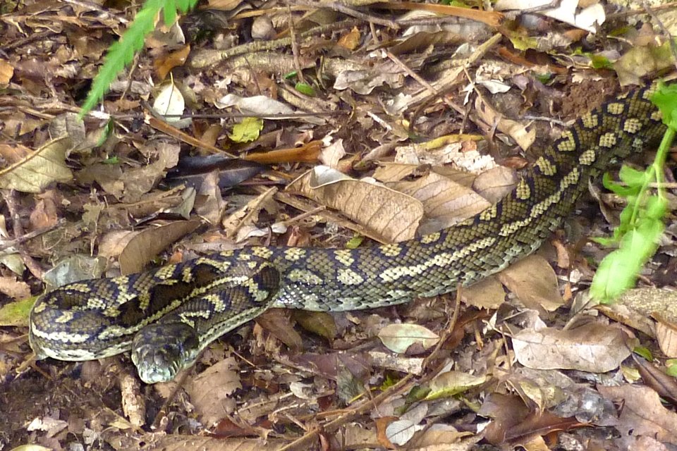
POLYGON ((627 340, 621 328, 594 322, 569 330, 524 329, 512 341, 515 357, 527 368, 605 373, 630 356, 627 340))

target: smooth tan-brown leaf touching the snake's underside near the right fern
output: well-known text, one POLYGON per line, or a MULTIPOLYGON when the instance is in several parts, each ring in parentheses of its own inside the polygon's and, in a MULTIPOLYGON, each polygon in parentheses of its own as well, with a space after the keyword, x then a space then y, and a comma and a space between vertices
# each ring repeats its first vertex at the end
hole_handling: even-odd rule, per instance
POLYGON ((555 311, 564 304, 555 271, 537 254, 511 264, 497 277, 530 309, 555 311))

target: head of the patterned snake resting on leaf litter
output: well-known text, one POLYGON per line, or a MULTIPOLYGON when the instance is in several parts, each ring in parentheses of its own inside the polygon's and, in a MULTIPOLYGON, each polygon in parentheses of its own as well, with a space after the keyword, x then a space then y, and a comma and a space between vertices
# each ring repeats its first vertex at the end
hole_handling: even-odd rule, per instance
POLYGON ((185 323, 145 326, 132 341, 132 362, 145 383, 171 381, 197 359, 199 340, 185 323))

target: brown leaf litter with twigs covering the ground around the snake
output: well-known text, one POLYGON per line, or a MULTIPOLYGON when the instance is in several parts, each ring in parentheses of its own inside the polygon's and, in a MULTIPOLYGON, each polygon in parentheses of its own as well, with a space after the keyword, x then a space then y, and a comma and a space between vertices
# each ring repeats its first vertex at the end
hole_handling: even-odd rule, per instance
MULTIPOLYGON (((142 387, 125 355, 20 366, 43 283, 240 242, 342 248, 432 233, 511 190, 560 120, 618 92, 614 73, 628 85, 671 64, 644 11, 595 1, 205 6, 159 24, 84 123, 73 118, 87 82, 135 8, 4 6, 0 447, 674 445, 673 296, 640 288, 587 306, 607 251, 576 233, 607 226, 586 202, 568 221, 578 232, 456 298, 269 311, 172 383, 142 387)), ((676 10, 656 13, 671 24, 676 10)), ((674 288, 670 230, 643 285, 674 288)))

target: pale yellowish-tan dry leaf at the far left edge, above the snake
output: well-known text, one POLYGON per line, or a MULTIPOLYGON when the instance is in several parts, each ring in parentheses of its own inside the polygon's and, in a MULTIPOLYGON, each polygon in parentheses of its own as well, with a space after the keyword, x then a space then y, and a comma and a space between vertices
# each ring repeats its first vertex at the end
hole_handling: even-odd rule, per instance
POLYGON ((35 152, 2 169, 0 188, 37 193, 52 182, 70 181, 73 173, 66 166, 68 149, 71 149, 71 139, 68 137, 47 142, 35 152))

